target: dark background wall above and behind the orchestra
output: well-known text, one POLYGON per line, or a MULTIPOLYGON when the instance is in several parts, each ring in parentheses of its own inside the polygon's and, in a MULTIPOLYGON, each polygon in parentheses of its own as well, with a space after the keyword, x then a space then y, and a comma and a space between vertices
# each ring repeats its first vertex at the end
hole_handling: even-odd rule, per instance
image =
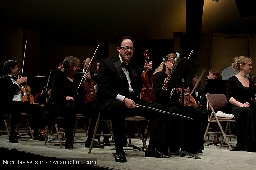
MULTIPOLYGON (((123 35, 135 39, 132 62, 143 66, 145 50, 154 69, 170 52, 192 59, 202 69, 223 68, 238 55, 256 53, 256 11, 247 0, 131 0, 129 3, 80 0, 1 0, 0 65, 14 59, 24 75, 48 76, 60 60, 73 55, 95 59, 117 55, 115 43, 123 35), (225 9, 225 10, 223 10, 225 9), (247 10, 244 10, 247 9, 247 10), (247 13, 245 13, 247 12, 247 13)), ((0 75, 3 75, 0 69, 0 75)), ((256 74, 253 68, 252 75, 256 74)))

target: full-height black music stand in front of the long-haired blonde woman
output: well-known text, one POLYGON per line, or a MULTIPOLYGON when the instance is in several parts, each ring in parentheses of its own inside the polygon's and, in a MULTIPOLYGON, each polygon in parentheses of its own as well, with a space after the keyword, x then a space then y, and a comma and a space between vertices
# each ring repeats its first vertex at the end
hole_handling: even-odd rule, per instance
MULTIPOLYGON (((169 89, 172 89, 173 87, 182 88, 182 103, 184 103, 184 91, 185 91, 184 88, 189 86, 198 68, 199 68, 199 65, 195 64, 194 60, 190 60, 188 58, 182 57, 170 76, 170 80, 168 81, 167 88, 169 89)), ((182 104, 182 115, 184 115, 183 104, 182 104)), ((190 155, 192 157, 195 157, 196 159, 201 159, 200 157, 196 156, 193 153, 184 151, 183 125, 184 125, 184 120, 182 119, 181 151, 174 152, 171 154, 173 155, 179 154, 181 157, 184 157, 185 155, 190 155)))

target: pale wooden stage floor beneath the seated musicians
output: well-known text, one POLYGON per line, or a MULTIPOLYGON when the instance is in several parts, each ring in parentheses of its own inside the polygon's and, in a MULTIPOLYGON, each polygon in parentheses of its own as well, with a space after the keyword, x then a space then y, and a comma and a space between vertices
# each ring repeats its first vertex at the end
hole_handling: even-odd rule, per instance
MULTIPOLYGON (((52 135, 52 138, 56 136, 52 135)), ((210 136, 211 137, 211 136, 210 136)), ((224 145, 222 147, 210 145, 206 146, 203 153, 196 154, 201 159, 195 159, 191 156, 179 157, 173 156, 170 159, 160 158, 147 158, 144 157, 144 152, 131 150, 130 148, 124 148, 127 152, 127 162, 117 163, 115 159, 115 150, 112 150, 112 146, 104 147, 104 149, 94 149, 91 154, 88 154, 89 148, 84 147, 84 141, 86 137, 84 134, 76 134, 74 141, 74 150, 66 150, 60 148, 60 146, 54 146, 57 141, 47 142, 44 145, 44 141, 33 141, 31 138, 23 137, 19 139, 19 143, 9 143, 7 135, 0 136, 0 147, 1 149, 7 148, 26 153, 36 154, 37 156, 43 156, 44 160, 57 158, 61 160, 66 159, 88 159, 96 158, 97 165, 93 165, 95 169, 113 169, 113 170, 253 170, 256 167, 256 153, 246 151, 229 151, 229 147, 224 145)), ((210 141, 207 140, 205 145, 210 141)), ((148 142, 147 142, 148 143, 148 142)), ((132 144, 142 147, 140 139, 132 140, 132 144)), ((231 144, 236 145, 236 138, 232 138, 231 144)), ((1 155, 0 166, 11 166, 10 159, 7 157, 9 162, 4 162, 6 157, 3 153, 1 155)), ((20 157, 20 159, 26 159, 26 154, 20 157)), ((31 157, 29 157, 31 159, 31 157)), ((32 156, 33 159, 33 156, 32 156)), ((17 163, 17 162, 16 162, 17 163)), ((15 162, 13 162, 15 164, 15 162)), ((48 163, 47 163, 48 164, 48 163)), ((35 166, 43 166, 34 164, 35 166)), ((18 166, 18 165, 17 165, 18 166)), ((25 166, 25 165, 24 165, 25 166)), ((48 165, 51 166, 51 165, 48 165)), ((68 166, 68 165, 67 165, 68 166)), ((91 167, 92 168, 92 167, 91 167)))

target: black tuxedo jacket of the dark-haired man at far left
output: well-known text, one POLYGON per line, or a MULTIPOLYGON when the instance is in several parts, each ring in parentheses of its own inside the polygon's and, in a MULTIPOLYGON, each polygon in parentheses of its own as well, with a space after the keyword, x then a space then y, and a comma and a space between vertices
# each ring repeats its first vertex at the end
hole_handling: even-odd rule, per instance
POLYGON ((14 95, 20 91, 20 87, 17 84, 13 84, 10 76, 5 75, 0 77, 0 84, 2 89, 0 90, 0 104, 6 108, 9 107, 14 95))

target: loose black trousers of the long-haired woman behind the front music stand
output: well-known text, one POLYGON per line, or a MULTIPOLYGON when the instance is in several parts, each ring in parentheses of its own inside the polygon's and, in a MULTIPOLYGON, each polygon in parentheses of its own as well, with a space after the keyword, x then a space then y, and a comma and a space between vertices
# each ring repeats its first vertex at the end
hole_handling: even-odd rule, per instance
MULTIPOLYGON (((193 120, 182 120, 182 118, 177 117, 170 119, 171 121, 168 121, 168 132, 172 135, 168 135, 168 137, 170 137, 168 138, 168 144, 171 151, 177 151, 178 146, 181 145, 184 151, 197 153, 204 149, 203 135, 206 128, 204 121, 205 115, 201 110, 194 107, 183 108, 183 115, 191 117, 193 120)), ((182 114, 182 107, 169 107, 168 111, 182 114)))

